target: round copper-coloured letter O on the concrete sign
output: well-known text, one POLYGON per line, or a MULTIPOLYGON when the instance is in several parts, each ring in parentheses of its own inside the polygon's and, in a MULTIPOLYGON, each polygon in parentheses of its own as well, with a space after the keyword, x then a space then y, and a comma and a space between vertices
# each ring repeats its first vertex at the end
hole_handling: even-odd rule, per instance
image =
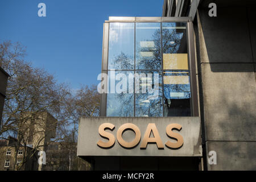
POLYGON ((120 126, 119 129, 117 130, 117 140, 118 140, 118 143, 123 147, 126 147, 126 148, 135 147, 141 140, 141 131, 133 123, 125 123, 122 126, 120 126), (123 140, 122 134, 126 129, 131 129, 135 133, 135 138, 131 142, 126 142, 125 140, 123 140))

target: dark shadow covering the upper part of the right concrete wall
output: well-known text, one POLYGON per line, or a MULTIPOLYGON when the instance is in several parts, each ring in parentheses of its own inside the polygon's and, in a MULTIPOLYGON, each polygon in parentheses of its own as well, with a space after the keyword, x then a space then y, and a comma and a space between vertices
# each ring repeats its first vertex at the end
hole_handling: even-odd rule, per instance
POLYGON ((217 17, 210 17, 208 11, 206 7, 199 9, 201 27, 195 27, 203 32, 196 32, 197 43, 200 39, 197 59, 201 60, 197 67, 210 63, 212 72, 255 72, 256 7, 246 3, 240 7, 218 7, 217 17), (229 69, 229 64, 237 64, 237 68, 229 69), (253 69, 241 64, 251 64, 253 69))

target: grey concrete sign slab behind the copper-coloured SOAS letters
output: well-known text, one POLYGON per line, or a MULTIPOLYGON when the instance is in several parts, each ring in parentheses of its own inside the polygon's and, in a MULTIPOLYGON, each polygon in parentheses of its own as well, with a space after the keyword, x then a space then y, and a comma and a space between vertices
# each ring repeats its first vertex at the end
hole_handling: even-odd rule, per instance
MULTIPOLYGON (((123 139, 131 142, 135 137, 133 131, 125 131, 123 139)), ((152 137, 152 135, 151 135, 152 137)), ((77 144, 78 156, 202 156, 201 154, 201 135, 199 117, 96 117, 81 118, 79 123, 79 138, 77 144), (115 136, 115 144, 112 148, 100 148, 97 146, 98 140, 107 142, 98 133, 98 127, 102 123, 112 123, 115 128, 113 131, 107 130, 115 136), (118 128, 124 123, 134 123, 141 131, 141 141, 144 137, 148 123, 155 123, 163 144, 168 140, 176 143, 166 134, 166 127, 171 123, 179 123, 182 126, 179 133, 184 140, 183 146, 178 149, 170 149, 164 146, 158 149, 155 143, 147 144, 146 149, 141 149, 141 141, 134 148, 123 148, 117 141, 116 133, 118 128)))

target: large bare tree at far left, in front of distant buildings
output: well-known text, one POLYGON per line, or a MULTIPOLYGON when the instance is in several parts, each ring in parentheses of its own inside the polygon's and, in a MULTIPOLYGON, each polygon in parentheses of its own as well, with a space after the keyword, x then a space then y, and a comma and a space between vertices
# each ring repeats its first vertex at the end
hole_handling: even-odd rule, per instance
POLYGON ((9 135, 13 135, 18 139, 15 144, 15 169, 20 168, 16 166, 19 147, 30 143, 31 136, 37 139, 33 143, 32 156, 43 147, 45 142, 42 141, 51 137, 48 133, 53 131, 49 130, 67 125, 63 109, 65 101, 71 96, 67 85, 57 84, 54 77, 44 69, 32 68, 30 63, 23 60, 25 56, 26 48, 19 43, 0 44, 0 66, 10 75, 0 136, 8 139, 9 135), (48 124, 42 118, 42 113, 46 112, 57 119, 53 123, 55 127, 46 126, 48 124))

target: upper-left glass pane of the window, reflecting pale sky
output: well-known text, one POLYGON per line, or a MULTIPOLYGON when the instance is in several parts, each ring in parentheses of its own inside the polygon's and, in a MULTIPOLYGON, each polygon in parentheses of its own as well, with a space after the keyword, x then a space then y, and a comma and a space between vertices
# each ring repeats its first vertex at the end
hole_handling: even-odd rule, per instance
POLYGON ((110 23, 109 69, 134 69, 134 23, 110 23))

